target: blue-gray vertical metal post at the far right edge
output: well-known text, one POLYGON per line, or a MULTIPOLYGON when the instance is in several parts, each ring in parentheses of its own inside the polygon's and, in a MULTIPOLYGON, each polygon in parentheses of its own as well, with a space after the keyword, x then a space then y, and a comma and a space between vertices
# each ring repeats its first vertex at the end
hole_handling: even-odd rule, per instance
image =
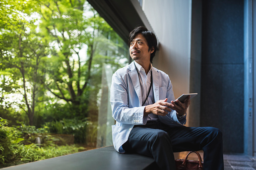
MULTIPOLYGON (((253 4, 256 0, 244 1, 244 153, 253 156, 253 4)), ((255 24, 255 23, 254 23, 255 24)), ((254 83, 255 85, 255 83, 254 83)), ((255 97, 255 95, 254 95, 255 97)), ((255 116, 254 116, 255 117, 255 116)), ((254 131, 255 133, 255 131, 254 131)), ((254 134, 255 136, 255 134, 254 134)), ((254 140, 255 142, 255 140, 254 140)))

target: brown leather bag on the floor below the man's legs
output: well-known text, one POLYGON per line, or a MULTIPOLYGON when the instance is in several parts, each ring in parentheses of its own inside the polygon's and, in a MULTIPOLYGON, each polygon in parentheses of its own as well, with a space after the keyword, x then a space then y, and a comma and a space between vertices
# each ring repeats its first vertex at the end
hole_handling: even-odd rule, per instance
POLYGON ((202 158, 197 151, 189 151, 185 159, 176 159, 175 163, 176 163, 176 170, 178 169, 202 170, 204 165, 204 162, 202 161, 202 158), (199 160, 187 160, 188 155, 192 152, 197 153, 199 160))

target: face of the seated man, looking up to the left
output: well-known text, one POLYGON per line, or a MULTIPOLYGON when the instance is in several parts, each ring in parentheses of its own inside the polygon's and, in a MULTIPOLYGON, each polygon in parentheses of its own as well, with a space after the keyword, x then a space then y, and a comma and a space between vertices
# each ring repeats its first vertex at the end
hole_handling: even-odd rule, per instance
POLYGON ((130 43, 130 56, 133 60, 148 60, 150 61, 150 54, 154 50, 149 50, 148 43, 142 34, 137 34, 130 43))

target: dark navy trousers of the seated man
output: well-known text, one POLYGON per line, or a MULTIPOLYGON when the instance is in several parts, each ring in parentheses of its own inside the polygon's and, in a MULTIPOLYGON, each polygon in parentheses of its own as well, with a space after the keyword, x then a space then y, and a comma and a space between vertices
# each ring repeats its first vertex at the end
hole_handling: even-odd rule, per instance
POLYGON ((127 153, 153 156, 160 169, 175 169, 173 152, 204 151, 204 170, 224 169, 222 133, 214 127, 169 127, 161 122, 135 126, 122 145, 127 153))

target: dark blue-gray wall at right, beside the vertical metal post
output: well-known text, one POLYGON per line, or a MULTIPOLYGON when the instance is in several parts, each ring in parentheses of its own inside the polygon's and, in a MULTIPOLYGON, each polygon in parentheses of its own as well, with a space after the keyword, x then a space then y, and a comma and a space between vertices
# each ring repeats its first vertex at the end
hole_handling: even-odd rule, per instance
POLYGON ((243 152, 243 1, 202 1, 201 126, 223 132, 224 152, 243 152))

